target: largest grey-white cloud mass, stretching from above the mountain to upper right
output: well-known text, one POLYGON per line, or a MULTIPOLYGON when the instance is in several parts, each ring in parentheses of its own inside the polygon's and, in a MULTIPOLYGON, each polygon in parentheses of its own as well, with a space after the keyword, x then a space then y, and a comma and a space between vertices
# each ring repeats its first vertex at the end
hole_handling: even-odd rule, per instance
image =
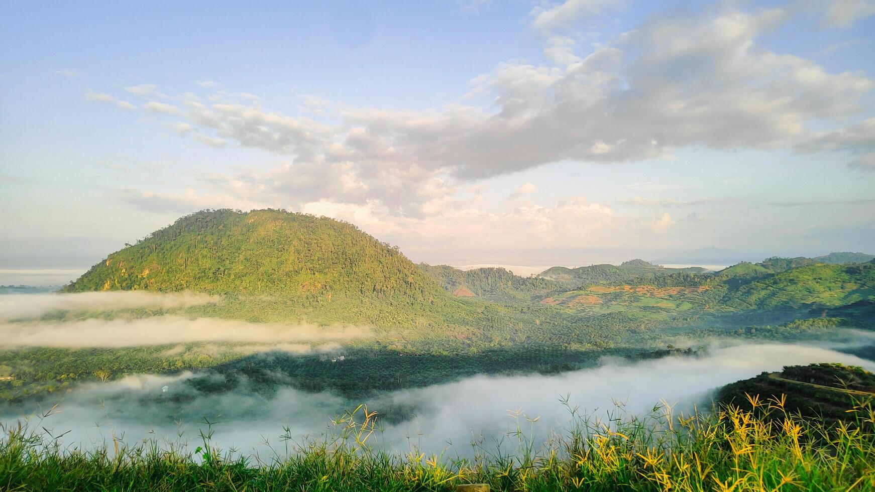
MULTIPOLYGON (((285 114, 262 107, 253 94, 186 93, 169 96, 170 105, 156 100, 164 97, 158 87, 128 90, 152 94, 144 107, 173 114, 177 135, 217 149, 242 146, 279 156, 273 169, 203 177, 199 191, 176 197, 193 204, 207 196, 291 210, 354 204, 356 213, 381 210, 398 225, 471 209, 473 197, 465 194, 471 182, 559 161, 668 159, 689 147, 797 149, 852 152, 851 167, 869 169, 872 150, 858 149, 844 135, 853 128, 830 136, 809 126, 857 117, 872 80, 759 43, 815 8, 800 5, 717 3, 649 17, 598 45, 579 43, 574 30, 558 32, 612 10, 614 2, 538 7, 532 23, 545 34, 548 63, 510 60, 471 80, 471 95, 493 101, 486 107, 400 110, 303 97, 300 114, 285 114)), ((841 17, 830 14, 831 7, 816 8, 819 15, 841 17)), ((209 81, 200 86, 215 87, 209 81)), ((95 100, 116 102, 102 93, 95 100)), ((155 194, 131 198, 143 203, 155 194)), ((501 214, 465 215, 493 216, 501 214)))

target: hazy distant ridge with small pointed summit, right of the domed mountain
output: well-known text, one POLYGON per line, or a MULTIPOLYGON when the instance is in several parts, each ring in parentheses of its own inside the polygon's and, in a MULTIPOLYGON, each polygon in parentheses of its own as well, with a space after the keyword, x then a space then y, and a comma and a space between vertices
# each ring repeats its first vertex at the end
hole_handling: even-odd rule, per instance
POLYGON ((554 281, 563 288, 577 288, 585 284, 623 284, 653 280, 671 274, 702 274, 702 267, 665 268, 644 260, 628 260, 617 265, 592 265, 590 267, 551 267, 539 277, 554 281))

